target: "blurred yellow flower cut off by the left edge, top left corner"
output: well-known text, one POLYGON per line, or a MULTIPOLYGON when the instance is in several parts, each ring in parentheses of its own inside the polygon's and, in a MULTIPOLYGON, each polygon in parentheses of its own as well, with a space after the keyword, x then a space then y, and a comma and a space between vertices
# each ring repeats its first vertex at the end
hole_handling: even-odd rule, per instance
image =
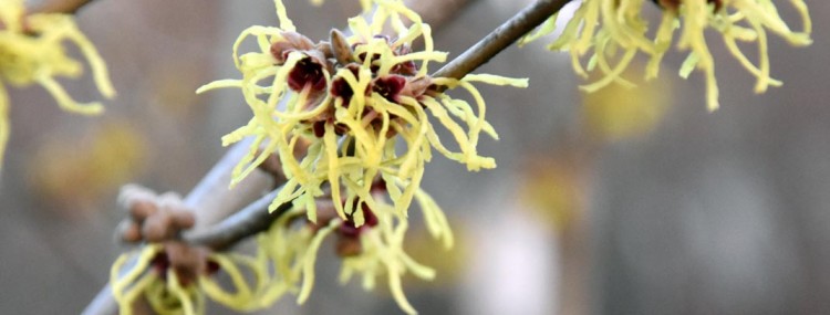
POLYGON ((100 103, 83 104, 72 99, 55 80, 77 77, 83 72, 81 63, 64 51, 64 41, 75 43, 86 57, 101 94, 114 96, 106 65, 77 30, 72 17, 58 13, 27 15, 23 0, 0 2, 0 165, 9 138, 7 84, 29 86, 38 83, 68 112, 94 115, 103 111, 100 103))

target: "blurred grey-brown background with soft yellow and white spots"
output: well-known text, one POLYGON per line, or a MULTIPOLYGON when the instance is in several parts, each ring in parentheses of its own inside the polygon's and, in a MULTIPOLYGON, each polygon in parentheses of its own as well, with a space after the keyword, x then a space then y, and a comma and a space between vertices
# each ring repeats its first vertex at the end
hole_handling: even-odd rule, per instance
MULTIPOLYGON (((357 1, 286 2, 312 39, 359 11, 357 1)), ((436 21, 436 46, 450 56, 530 1, 469 2, 436 21)), ((799 29, 795 11, 777 2, 799 29)), ((405 281, 415 308, 830 311, 830 21, 820 15, 830 2, 809 2, 815 43, 793 49, 770 36, 772 75, 785 86, 764 95, 709 34, 722 91, 715 113, 706 111, 701 74, 675 75, 679 53, 666 57, 655 82, 591 95, 578 92, 583 81, 568 56, 542 42, 511 48, 480 69, 527 76, 530 87, 481 87, 501 139, 483 139, 479 151, 496 157, 497 169, 470 174, 440 157, 428 166, 423 186, 450 217, 458 242, 444 252, 423 225, 412 228, 412 255, 438 270, 434 282, 405 281)), ((39 87, 10 88, 11 140, 0 174, 2 314, 83 309, 124 250, 113 239, 124 217, 115 207, 120 186, 193 188, 225 151, 220 136, 250 115, 238 91, 194 91, 238 77, 230 57, 238 33, 277 20, 268 0, 98 0, 77 22, 107 61, 118 97, 106 102, 104 116, 89 118, 61 112, 39 87)), ((634 81, 639 62, 626 74, 634 81)), ((87 78, 64 84, 76 99, 98 99, 87 78)), ((333 244, 328 249, 307 305, 284 298, 261 313, 400 313, 383 287, 339 285, 333 244)))

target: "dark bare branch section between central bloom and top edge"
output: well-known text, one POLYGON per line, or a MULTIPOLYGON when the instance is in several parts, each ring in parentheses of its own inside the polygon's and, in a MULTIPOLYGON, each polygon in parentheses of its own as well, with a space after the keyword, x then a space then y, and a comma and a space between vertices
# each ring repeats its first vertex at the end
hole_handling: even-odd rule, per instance
POLYGON ((550 18, 550 15, 559 12, 559 10, 570 1, 571 0, 536 1, 533 4, 528 6, 510 18, 510 20, 499 25, 475 45, 467 49, 461 55, 444 65, 444 67, 439 69, 433 74, 433 76, 453 78, 464 77, 490 61, 490 59, 513 44, 521 39, 521 36, 536 29, 536 27, 543 23, 550 18))

